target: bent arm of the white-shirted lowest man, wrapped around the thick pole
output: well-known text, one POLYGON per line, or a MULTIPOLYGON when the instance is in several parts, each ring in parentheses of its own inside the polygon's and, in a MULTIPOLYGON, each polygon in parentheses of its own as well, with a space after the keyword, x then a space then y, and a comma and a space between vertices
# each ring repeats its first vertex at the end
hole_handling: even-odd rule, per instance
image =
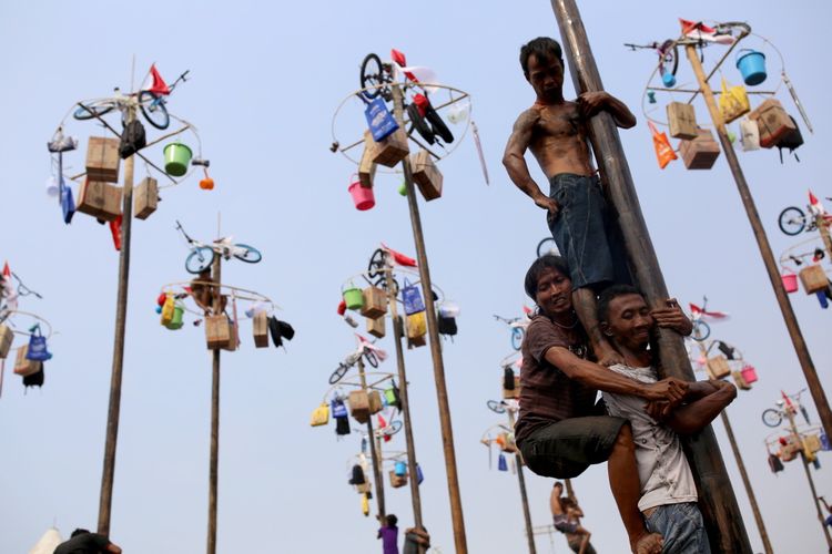
POLYGON ((663 423, 679 434, 696 433, 720 414, 737 398, 737 387, 727 381, 711 380, 690 383, 684 400, 690 401, 672 410, 663 423))

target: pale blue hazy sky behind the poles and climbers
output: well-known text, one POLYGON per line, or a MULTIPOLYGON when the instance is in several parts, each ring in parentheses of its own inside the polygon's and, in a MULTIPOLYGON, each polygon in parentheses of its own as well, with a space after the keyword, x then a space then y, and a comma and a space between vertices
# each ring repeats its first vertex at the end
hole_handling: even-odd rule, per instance
MULTIPOLYGON (((0 258, 42 300, 21 309, 47 319, 54 358, 42 389, 24 391, 7 363, 0 397, 0 552, 28 552, 57 525, 94 529, 104 448, 118 254, 109 229, 77 214, 61 220, 44 183, 52 167, 45 143, 62 122, 81 147, 67 154, 67 171, 81 171, 87 137, 101 134, 89 122, 67 117, 74 102, 105 96, 114 86, 135 86, 155 62, 166 80, 190 70, 170 98, 171 112, 195 125, 202 157, 211 160, 214 191, 201 191, 199 174, 162 191, 159 211, 133 224, 123 397, 116 454, 111 537, 125 552, 200 552, 207 517, 211 361, 202 328, 170 331, 154 311, 161 288, 187 278, 179 219, 202 240, 222 235, 256 246, 258 265, 230 261, 225 283, 256 290, 281 307, 296 337, 285 350, 255 349, 251 321, 243 345, 223 352, 220 423, 219 552, 381 551, 376 522, 361 514, 347 484, 349 460, 359 450, 353 433, 337 440, 333 428, 308 419, 328 388, 327 378, 355 346, 337 316, 341 286, 362 271, 385 242, 415 256, 400 177, 379 175, 376 206, 357 212, 347 194, 355 166, 328 150, 332 119, 358 88, 358 68, 369 52, 387 59, 390 48, 409 63, 433 68, 443 83, 466 91, 479 127, 490 175, 486 184, 468 135, 439 168, 443 197, 419 198, 432 276, 461 308, 459 335, 443 351, 467 541, 470 552, 522 552, 524 522, 517 480, 489 469, 483 431, 501 418, 486 408, 497 398, 499 360, 510 353, 507 327, 493 315, 516 316, 524 304, 522 277, 547 234, 544 215, 508 179, 500 164, 517 115, 534 102, 518 64, 519 48, 539 37, 558 38, 548 2, 436 2, 395 12, 351 2, 168 3, 152 10, 88 1, 6 2, 0 7, 3 86, 0 103, 0 258), (385 19, 387 18, 387 19, 385 19), (134 78, 131 65, 135 64, 134 78)), ((387 8, 386 6, 384 8, 387 8)), ((800 162, 775 151, 739 152, 775 256, 798 240, 777 217, 804 206, 806 191, 832 196, 824 160, 832 148, 829 73, 823 70, 829 2, 601 2, 579 3, 605 88, 629 105, 638 125, 621 131, 645 219, 670 293, 683 306, 709 298, 731 314, 713 336, 737 346, 760 381, 728 409, 775 551, 819 552, 824 538, 799 462, 774 475, 764 440, 771 430, 761 412, 780 390, 805 387, 777 307, 751 228, 721 155, 710 171, 687 171, 681 161, 657 165, 641 109, 655 63, 649 43, 676 37, 677 18, 748 21, 782 53, 788 75, 805 105, 814 133, 780 86, 778 99, 805 138, 800 162), (814 52, 814 54, 812 54, 814 52)), ((748 48, 767 54, 772 90, 780 74, 777 53, 760 38, 748 48)), ((706 66, 718 48, 704 52, 706 66)), ((718 74, 719 75, 719 74, 718 74)), ((739 84, 732 61, 722 75, 739 84)), ((680 85, 693 83, 682 60, 680 85)), ((718 78, 713 85, 718 86, 718 78)), ((567 79, 566 94, 574 98, 567 79)), ((662 104, 687 100, 657 93, 645 106, 663 120, 662 104)), ((752 98, 759 102, 759 98, 752 98)), ((338 120, 342 144, 361 137, 362 114, 347 103, 338 120), (352 111, 349 111, 352 110, 352 111), (347 113, 348 112, 348 113, 347 113), (342 131, 343 127, 343 131, 342 131)), ((696 103, 697 119, 708 115, 696 103)), ((111 121, 115 122, 115 119, 111 121)), ((160 133, 145 125, 149 137, 160 133)), ((735 127, 737 124, 733 125, 735 127)), ((451 126, 459 132, 461 126, 451 126)), ((195 145, 192 136, 186 144, 195 145)), ((676 145, 676 141, 672 141, 676 145)), ((161 147, 148 153, 161 163, 161 147)), ((532 176, 544 185, 531 158, 532 176)), ((145 176, 136 164, 136 179, 145 176)), ((77 192, 77 191, 75 191, 77 192)), ((828 201, 832 207, 832 201, 828 201)), ((802 236, 799 238, 809 238, 802 236)), ((826 265, 826 267, 829 267, 826 265)), ((829 311, 802 291, 790 296, 821 382, 832 386, 829 311)), ((23 319, 20 320, 21 325, 23 319)), ((393 351, 389 338, 379 341, 393 351)), ((427 348, 406 352, 416 452, 425 473, 425 525, 437 552, 454 551, 442 453, 436 388, 427 348)), ((393 361, 382 366, 394 371, 393 361)), ((816 422, 816 410, 802 397, 816 422)), ((721 423, 714 430, 752 546, 762 551, 737 464, 721 423)), ((387 447, 404 450, 404 437, 387 447)), ((832 494, 829 466, 813 471, 820 494, 832 494)), ((534 525, 550 523, 551 480, 526 473, 534 525)), ((609 493, 606 468, 575 480, 599 552, 626 552, 626 535, 609 493)), ((388 511, 402 526, 413 522, 408 489, 387 489, 388 511)), ((538 552, 566 552, 562 535, 537 536, 538 552)))

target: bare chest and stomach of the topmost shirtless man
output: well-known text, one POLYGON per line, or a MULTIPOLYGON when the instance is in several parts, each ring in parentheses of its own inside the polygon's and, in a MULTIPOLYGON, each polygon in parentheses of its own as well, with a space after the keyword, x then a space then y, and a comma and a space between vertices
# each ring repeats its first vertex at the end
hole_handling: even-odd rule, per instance
POLYGON ((529 150, 547 178, 561 173, 584 176, 595 173, 586 125, 577 102, 536 103, 528 112, 535 121, 529 150))

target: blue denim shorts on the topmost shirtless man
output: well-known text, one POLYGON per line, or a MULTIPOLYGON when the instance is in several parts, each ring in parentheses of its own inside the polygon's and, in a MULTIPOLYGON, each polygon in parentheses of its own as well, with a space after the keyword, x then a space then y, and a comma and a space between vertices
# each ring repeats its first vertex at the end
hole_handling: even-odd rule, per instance
POLYGON ((549 230, 569 265, 572 288, 632 281, 620 232, 611 222, 597 176, 561 173, 549 182, 560 212, 547 214, 549 230))

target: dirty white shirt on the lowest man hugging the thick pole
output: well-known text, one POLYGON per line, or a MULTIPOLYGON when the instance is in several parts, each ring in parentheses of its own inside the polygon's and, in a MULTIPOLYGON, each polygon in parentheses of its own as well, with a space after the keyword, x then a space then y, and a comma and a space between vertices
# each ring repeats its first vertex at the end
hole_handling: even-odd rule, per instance
MULTIPOLYGON (((656 369, 615 365, 610 370, 643 383, 655 383, 656 369)), ((697 502, 697 485, 676 431, 645 411, 647 401, 629 394, 602 392, 610 416, 630 420, 636 443, 636 464, 641 483, 639 510, 664 504, 697 502)))

